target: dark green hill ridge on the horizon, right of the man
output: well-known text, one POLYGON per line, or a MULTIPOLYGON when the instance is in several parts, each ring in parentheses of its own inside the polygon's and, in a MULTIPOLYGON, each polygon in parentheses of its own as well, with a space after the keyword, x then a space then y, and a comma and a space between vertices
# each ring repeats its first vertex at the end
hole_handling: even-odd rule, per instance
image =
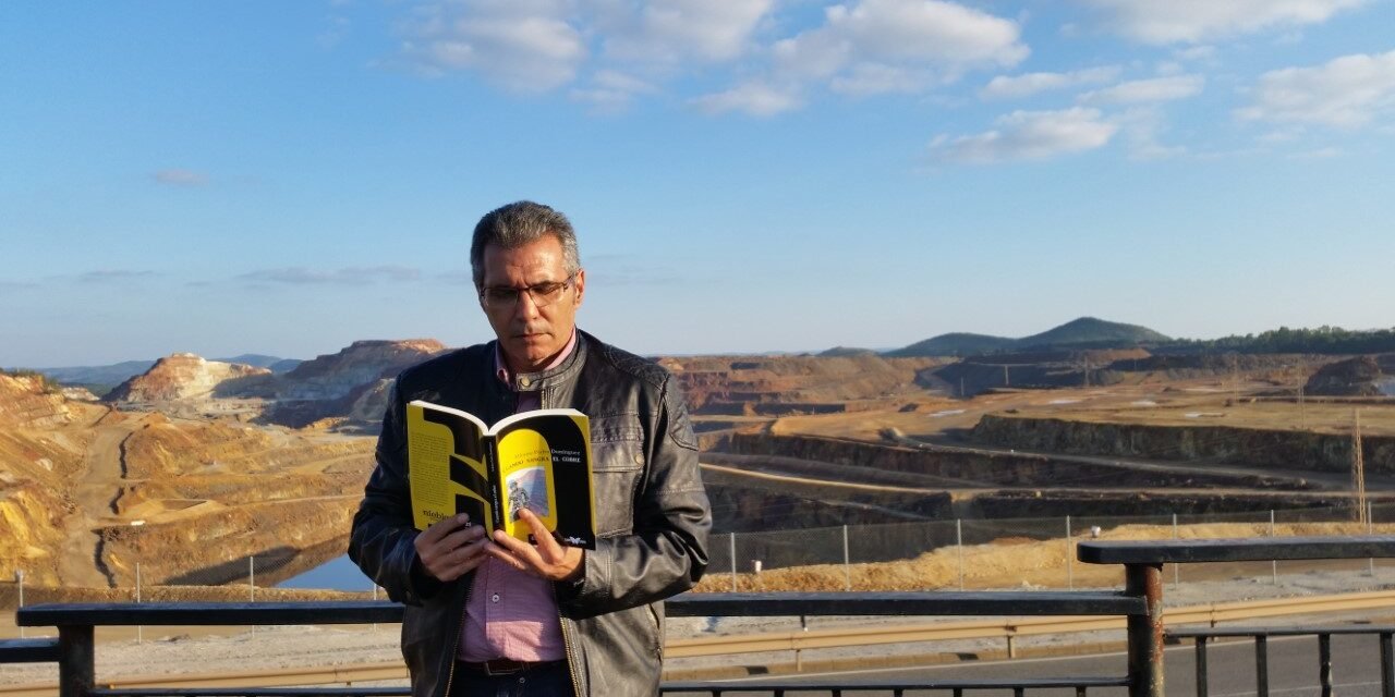
POLYGON ((1006 336, 954 332, 886 351, 887 357, 975 355, 986 353, 1062 348, 1129 348, 1140 344, 1170 342, 1166 335, 1140 325, 1109 322, 1094 316, 1071 319, 1038 335, 1010 339, 1006 336))

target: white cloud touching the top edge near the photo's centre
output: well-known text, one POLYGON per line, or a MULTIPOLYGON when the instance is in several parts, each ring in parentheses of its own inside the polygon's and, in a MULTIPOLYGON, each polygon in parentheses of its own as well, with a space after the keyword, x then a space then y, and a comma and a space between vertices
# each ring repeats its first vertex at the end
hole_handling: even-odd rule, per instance
POLYGON ((731 60, 746 52, 751 35, 773 0, 653 0, 615 22, 605 53, 625 61, 731 60))

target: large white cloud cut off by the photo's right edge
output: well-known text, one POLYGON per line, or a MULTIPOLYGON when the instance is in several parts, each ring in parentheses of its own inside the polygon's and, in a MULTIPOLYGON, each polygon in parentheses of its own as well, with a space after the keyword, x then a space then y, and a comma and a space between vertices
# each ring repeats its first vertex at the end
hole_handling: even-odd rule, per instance
POLYGON ((1236 110, 1247 121, 1367 125, 1395 110, 1395 52, 1355 54, 1311 68, 1260 75, 1254 102, 1236 110))

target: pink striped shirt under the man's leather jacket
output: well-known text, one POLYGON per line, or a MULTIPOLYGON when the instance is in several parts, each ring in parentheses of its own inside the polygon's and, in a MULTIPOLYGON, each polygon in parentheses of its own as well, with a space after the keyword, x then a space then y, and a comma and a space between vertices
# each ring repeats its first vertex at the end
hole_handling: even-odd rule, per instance
MULTIPOLYGON (((576 348, 575 328, 562 353, 544 369, 561 365, 573 348, 576 348)), ((494 369, 505 385, 513 386, 513 376, 498 344, 494 348, 494 369)), ((518 411, 541 407, 543 397, 538 392, 519 392, 518 411)), ((474 570, 470 601, 465 606, 459 658, 470 662, 494 658, 515 661, 566 658, 552 581, 519 572, 492 556, 485 558, 474 570)))

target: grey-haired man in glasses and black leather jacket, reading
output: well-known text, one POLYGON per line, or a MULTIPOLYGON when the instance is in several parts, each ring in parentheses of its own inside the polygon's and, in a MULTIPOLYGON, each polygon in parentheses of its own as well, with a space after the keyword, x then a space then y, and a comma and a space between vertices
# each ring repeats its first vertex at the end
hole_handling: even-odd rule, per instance
MULTIPOLYGON (((474 229, 470 266, 497 339, 398 376, 349 556, 406 604, 416 697, 658 691, 664 598, 707 566, 711 512, 682 395, 661 367, 576 329, 586 290, 576 234, 520 201, 474 229), (424 399, 485 422, 531 408, 590 417, 594 551, 550 535, 490 539, 480 521, 412 526, 405 406, 424 399)), ((541 526, 525 510, 529 526, 541 526)))

